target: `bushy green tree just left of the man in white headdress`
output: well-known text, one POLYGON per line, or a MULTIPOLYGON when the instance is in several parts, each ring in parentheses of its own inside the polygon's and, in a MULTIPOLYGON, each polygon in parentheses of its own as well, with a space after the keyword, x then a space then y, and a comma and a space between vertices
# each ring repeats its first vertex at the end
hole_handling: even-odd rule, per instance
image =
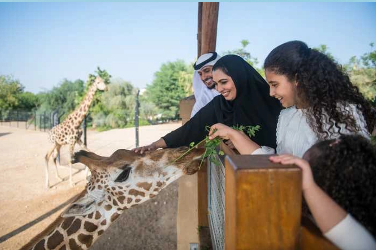
POLYGON ((147 96, 159 108, 164 118, 178 118, 179 102, 187 95, 184 86, 179 82, 182 71, 188 71, 182 60, 164 63, 154 74, 152 84, 147 85, 147 96))

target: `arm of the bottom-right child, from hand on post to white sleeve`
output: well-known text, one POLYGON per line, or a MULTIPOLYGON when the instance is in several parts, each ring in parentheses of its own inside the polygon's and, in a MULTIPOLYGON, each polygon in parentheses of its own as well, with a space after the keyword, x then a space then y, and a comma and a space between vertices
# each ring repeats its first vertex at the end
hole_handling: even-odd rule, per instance
POLYGON ((306 160, 291 155, 271 156, 272 162, 295 164, 302 169, 303 196, 318 228, 340 249, 376 249, 376 241, 360 223, 315 183, 306 160))

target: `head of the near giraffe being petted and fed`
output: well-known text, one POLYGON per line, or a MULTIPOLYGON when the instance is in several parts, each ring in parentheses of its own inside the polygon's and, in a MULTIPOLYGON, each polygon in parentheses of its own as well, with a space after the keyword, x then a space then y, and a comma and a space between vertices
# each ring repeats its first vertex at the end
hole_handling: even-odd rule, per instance
POLYGON ((176 160, 187 149, 169 148, 144 154, 121 149, 109 157, 79 151, 74 162, 88 166, 91 178, 85 196, 71 204, 62 217, 84 216, 100 210, 99 207, 117 217, 123 210, 153 198, 182 175, 197 172, 205 149, 194 148, 176 160))

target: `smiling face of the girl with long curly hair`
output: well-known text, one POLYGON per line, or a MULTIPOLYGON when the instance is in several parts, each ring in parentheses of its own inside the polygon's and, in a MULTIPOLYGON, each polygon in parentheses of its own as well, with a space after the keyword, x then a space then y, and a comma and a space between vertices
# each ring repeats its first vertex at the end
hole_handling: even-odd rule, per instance
POLYGON ((285 108, 297 104, 297 82, 290 82, 286 76, 277 75, 268 69, 265 70, 265 76, 270 87, 270 96, 277 98, 285 108))

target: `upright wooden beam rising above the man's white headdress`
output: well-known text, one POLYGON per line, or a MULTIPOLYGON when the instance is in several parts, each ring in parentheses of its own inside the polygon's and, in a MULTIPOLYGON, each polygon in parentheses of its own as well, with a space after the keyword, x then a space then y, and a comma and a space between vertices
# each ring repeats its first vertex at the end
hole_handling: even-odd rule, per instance
POLYGON ((202 3, 201 54, 215 51, 219 2, 202 3))

